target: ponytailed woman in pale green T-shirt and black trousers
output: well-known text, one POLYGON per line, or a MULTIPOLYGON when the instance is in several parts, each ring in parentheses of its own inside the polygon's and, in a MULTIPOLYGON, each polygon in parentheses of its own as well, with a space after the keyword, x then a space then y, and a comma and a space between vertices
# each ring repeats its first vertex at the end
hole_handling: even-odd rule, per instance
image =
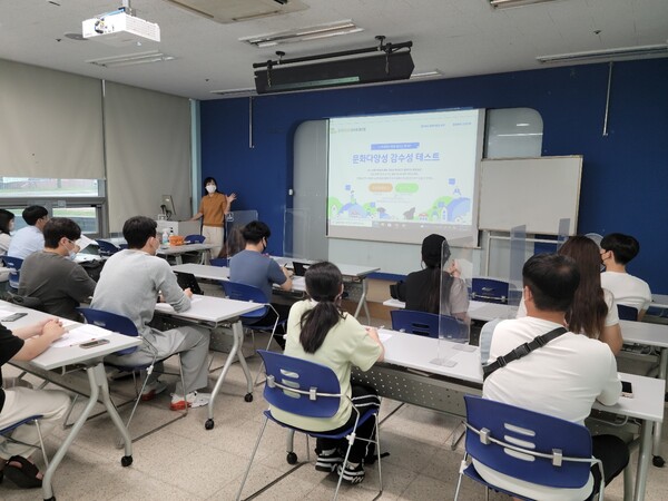
MULTIPOLYGON (((295 303, 287 322, 285 354, 317 362, 331 367, 341 383, 342 397, 338 412, 332 418, 303 418, 289 412, 272 409, 276 419, 303 430, 316 432, 338 431, 355 422, 352 405, 362 412, 380 405, 375 390, 351 385, 353 365, 367 371, 375 362, 383 360, 384 348, 373 327, 363 327, 355 317, 341 311, 343 278, 332 263, 316 263, 304 276, 310 299, 295 303)), ((357 428, 357 436, 370 439, 373 435, 373 420, 357 428)), ((363 460, 367 442, 356 440, 343 472, 343 479, 351 483, 364 480, 363 460)), ((317 439, 318 453, 315 469, 324 472, 341 471, 347 441, 317 439)))

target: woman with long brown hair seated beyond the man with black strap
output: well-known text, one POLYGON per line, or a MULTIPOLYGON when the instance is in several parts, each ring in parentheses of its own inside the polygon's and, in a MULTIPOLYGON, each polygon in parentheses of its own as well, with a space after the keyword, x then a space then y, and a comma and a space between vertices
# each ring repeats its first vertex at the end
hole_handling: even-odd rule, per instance
MULTIPOLYGON (((601 288, 599 249, 586 236, 571 236, 559 248, 559 254, 576 261, 580 272, 580 285, 566 320, 572 332, 584 334, 610 346, 617 355, 623 344, 619 315, 612 294, 601 288)), ((518 318, 527 315, 524 302, 520 303, 518 318)), ((481 332, 482 340, 482 332, 481 332)), ((481 341, 482 343, 482 341, 481 341)))

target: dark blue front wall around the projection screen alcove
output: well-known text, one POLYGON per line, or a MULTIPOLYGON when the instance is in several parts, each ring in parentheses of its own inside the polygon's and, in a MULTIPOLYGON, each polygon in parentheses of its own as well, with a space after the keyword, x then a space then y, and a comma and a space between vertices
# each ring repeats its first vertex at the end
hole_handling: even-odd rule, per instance
MULTIPOLYGON (((583 155, 579 233, 621 232, 641 243, 629 271, 668 293, 668 59, 615 63, 602 136, 608 65, 552 68, 393 86, 202 102, 203 177, 236 191, 236 209, 256 208, 279 253, 289 207, 293 136, 304 120, 438 108, 537 109, 543 156, 583 155)), ((527 189, 536 189, 528 186, 527 189)), ((550 187, 540 187, 549 190, 550 187)))

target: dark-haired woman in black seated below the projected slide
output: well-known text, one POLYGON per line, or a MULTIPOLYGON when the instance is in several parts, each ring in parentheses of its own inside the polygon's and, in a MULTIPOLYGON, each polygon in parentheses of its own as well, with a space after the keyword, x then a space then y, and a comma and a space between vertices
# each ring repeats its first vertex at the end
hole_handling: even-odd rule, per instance
POLYGON ((406 310, 439 313, 441 299, 448 305, 444 315, 466 318, 469 310, 469 291, 459 277, 456 263, 443 271, 443 264, 450 258, 448 240, 441 235, 432 234, 422 240, 422 262, 426 268, 409 274, 405 282, 397 284, 397 299, 405 301, 406 310), (441 297, 443 281, 444 297, 441 297))

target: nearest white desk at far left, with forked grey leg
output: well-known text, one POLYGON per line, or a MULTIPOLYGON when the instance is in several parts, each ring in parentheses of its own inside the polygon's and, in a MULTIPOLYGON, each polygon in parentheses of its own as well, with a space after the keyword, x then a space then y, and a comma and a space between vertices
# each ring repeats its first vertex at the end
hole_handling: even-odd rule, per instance
MULTIPOLYGON (((6 302, 0 302, 0 305, 3 310, 12 310, 17 312, 26 312, 28 315, 20 318, 19 321, 12 322, 10 324, 6 324, 9 328, 20 327, 23 325, 30 325, 38 322, 45 317, 51 317, 52 315, 47 315, 46 313, 37 312, 35 310, 24 308, 18 305, 13 305, 6 302)), ((88 399, 88 403, 84 407, 84 411, 77 419, 77 421, 72 424, 72 428, 65 439, 65 441, 58 448, 58 451, 51 459, 49 463, 49 468, 45 473, 45 478, 42 480, 42 493, 45 499, 53 498, 53 489, 52 489, 52 480, 53 474, 56 473, 56 469, 67 454, 68 449, 79 434, 79 431, 88 420, 88 416, 92 412, 95 404, 98 399, 101 399, 105 407, 107 409, 107 413, 111 421, 116 425, 116 429, 119 431, 124 442, 125 442, 125 455, 121 458, 120 463, 122 466, 129 466, 132 464, 132 441, 130 435, 122 423, 122 420, 118 415, 118 411, 111 403, 111 399, 109 397, 109 385, 107 383, 107 374, 105 372, 105 365, 102 364, 102 358, 106 355, 118 352, 120 350, 125 350, 132 346, 138 346, 141 344, 140 337, 128 337, 122 334, 111 333, 109 337, 105 337, 109 340, 108 344, 102 344, 99 346, 94 346, 90 348, 82 348, 80 346, 69 346, 69 347, 50 347, 45 351, 39 356, 35 357, 30 362, 23 363, 12 363, 14 365, 20 366, 23 370, 31 372, 31 367, 37 367, 40 370, 36 372, 39 376, 46 377, 49 381, 58 384, 58 380, 56 377, 50 377, 50 374, 46 373, 46 371, 53 371, 57 369, 62 369, 67 365, 81 364, 86 369, 88 373, 88 382, 90 384, 90 396, 88 399)), ((55 374, 53 374, 55 375, 55 374)))

